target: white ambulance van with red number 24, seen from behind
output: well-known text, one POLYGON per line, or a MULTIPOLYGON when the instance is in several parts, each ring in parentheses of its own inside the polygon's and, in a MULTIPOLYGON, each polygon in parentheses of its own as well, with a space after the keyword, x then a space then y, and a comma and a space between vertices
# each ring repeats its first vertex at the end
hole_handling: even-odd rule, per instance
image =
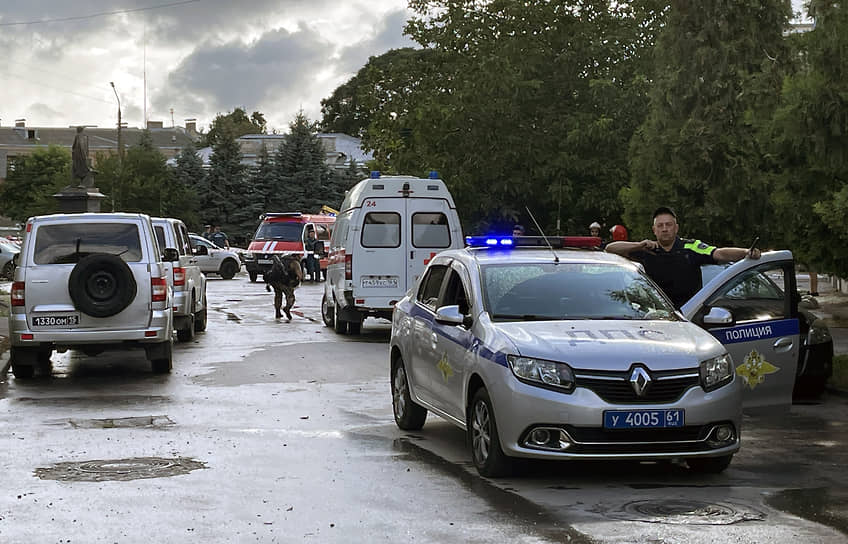
POLYGON ((351 188, 330 237, 324 324, 358 334, 366 317, 391 319, 395 303, 438 252, 464 247, 453 197, 428 179, 372 172, 351 188))

